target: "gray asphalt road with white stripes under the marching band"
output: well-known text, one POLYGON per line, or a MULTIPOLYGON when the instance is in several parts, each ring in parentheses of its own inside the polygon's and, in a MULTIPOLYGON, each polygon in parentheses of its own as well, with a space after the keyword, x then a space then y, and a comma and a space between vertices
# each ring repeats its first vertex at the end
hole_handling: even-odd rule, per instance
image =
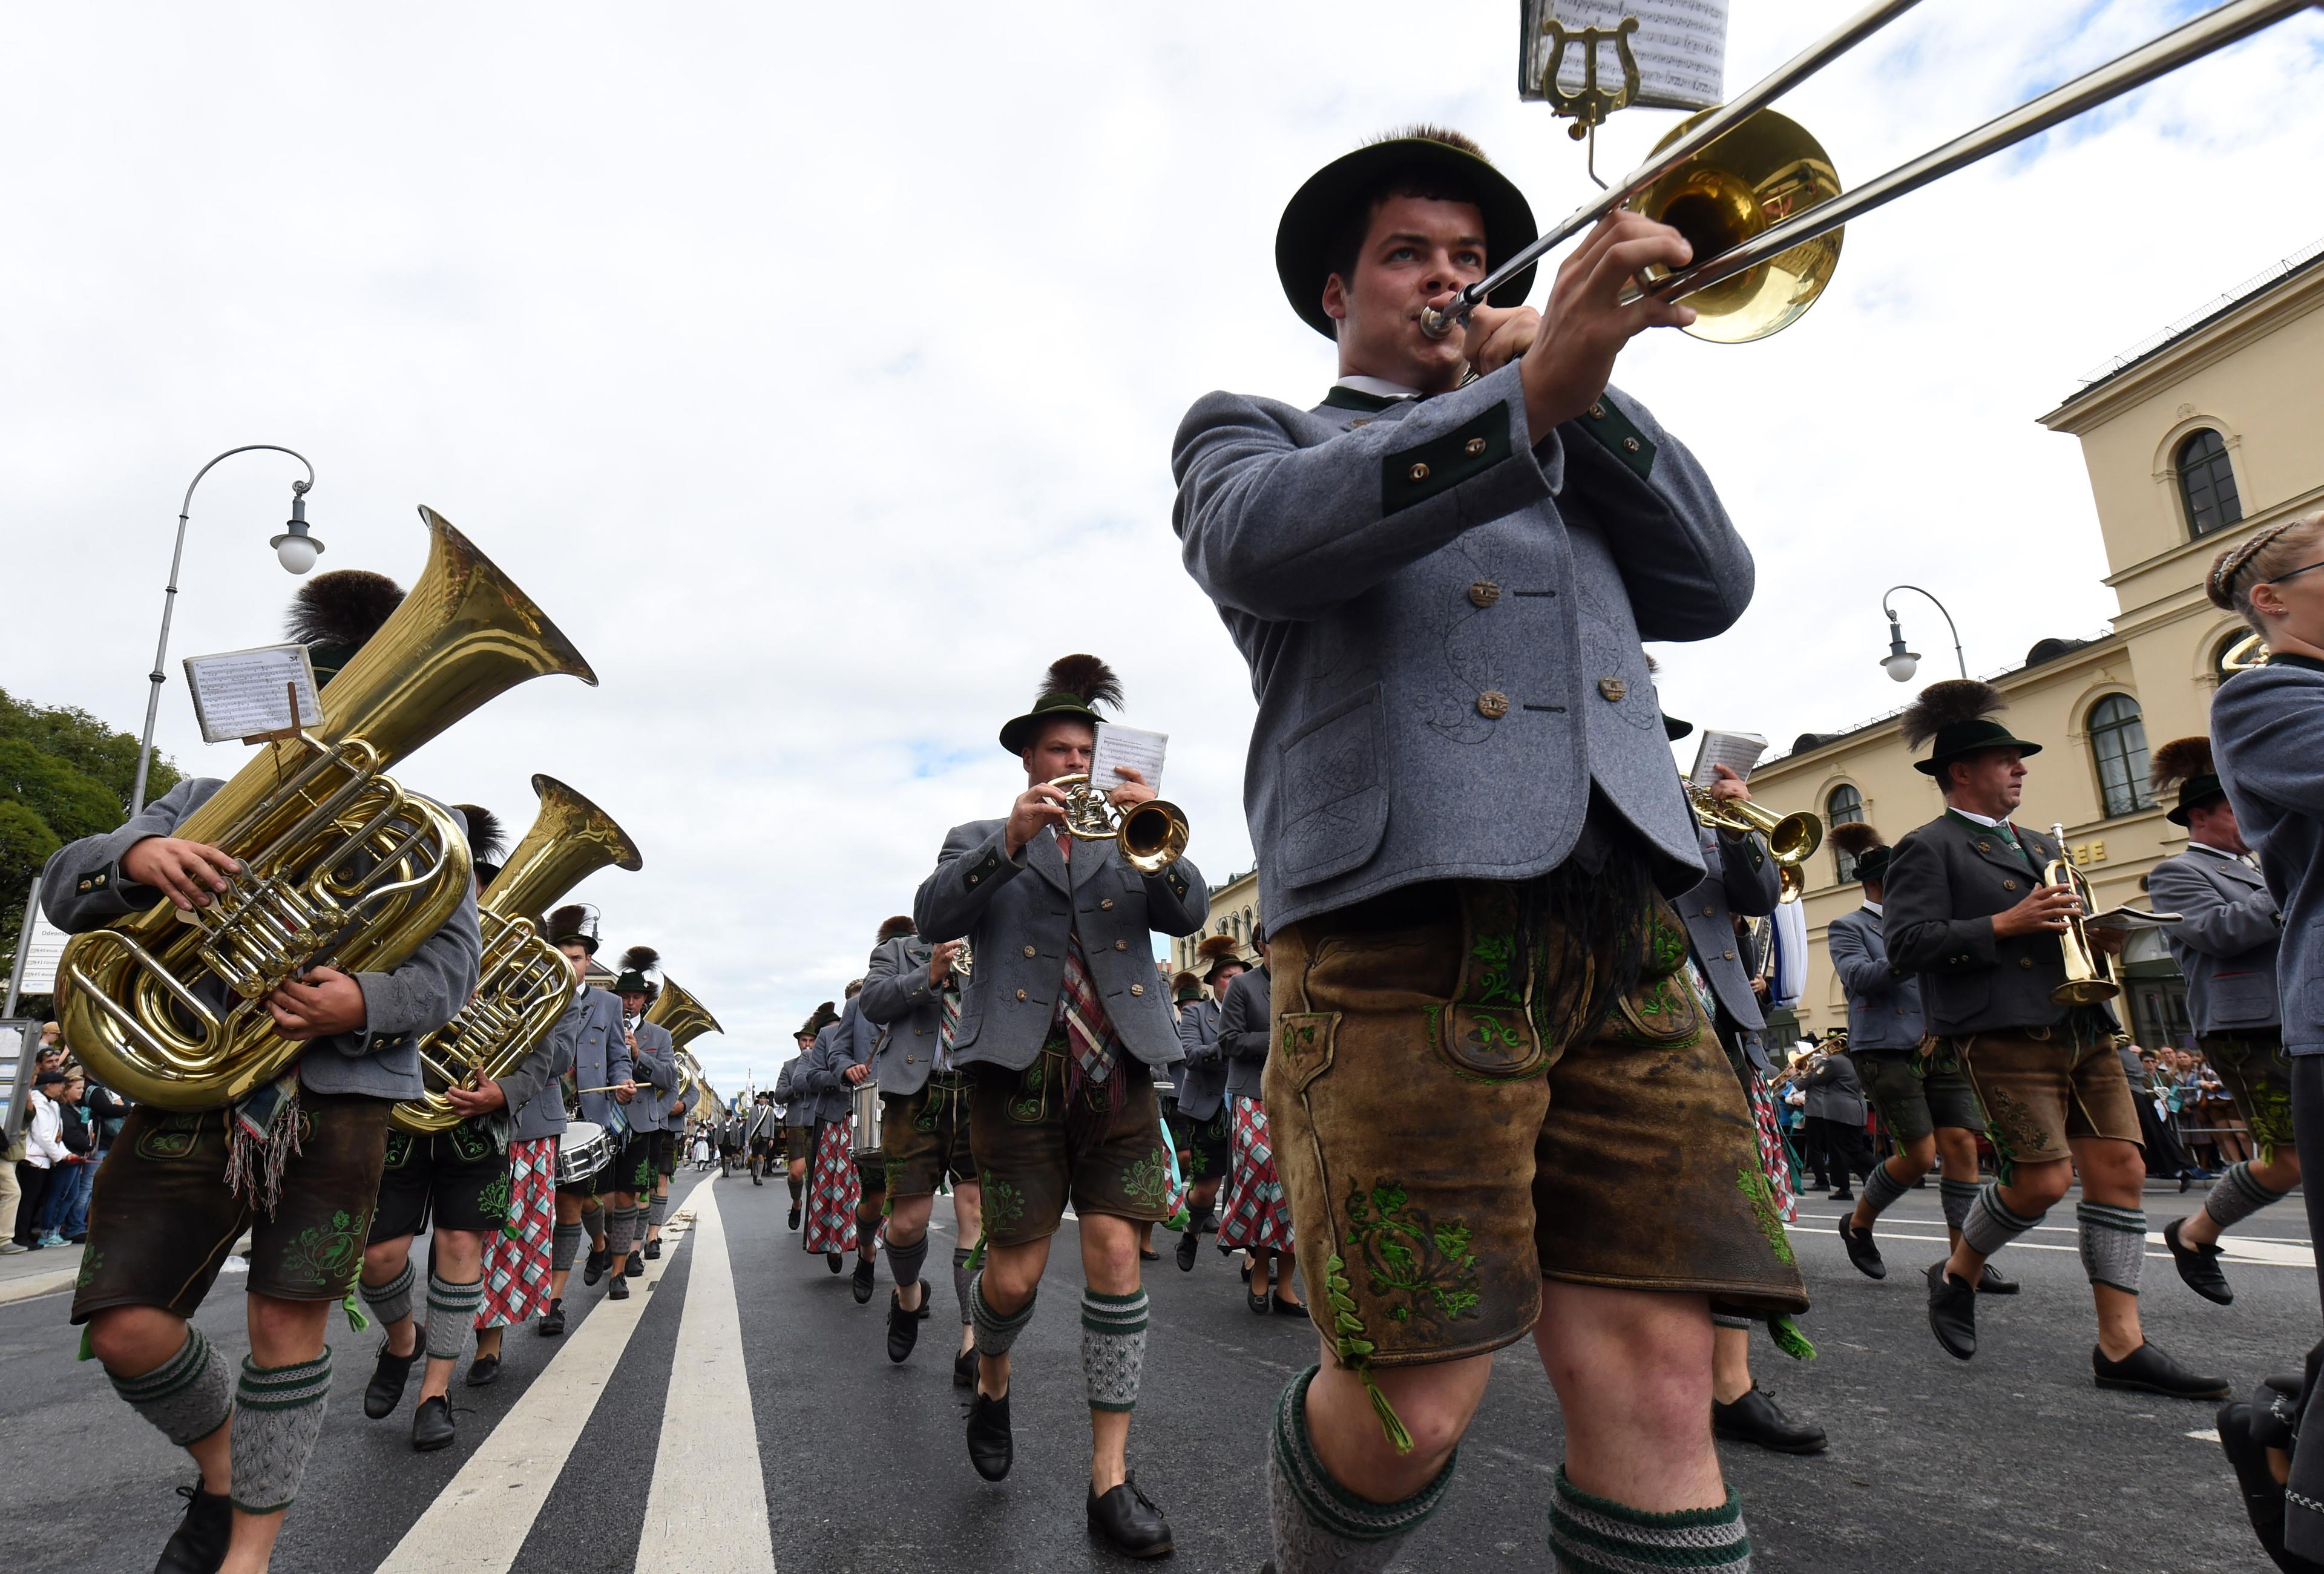
MULTIPOLYGON (((681 1176, 679 1209, 700 1216, 695 1186, 681 1176)), ((716 1218, 679 1237, 653 1265, 653 1288, 627 1307, 576 1276, 579 1316, 565 1339, 511 1332, 500 1383, 453 1383, 460 1441, 444 1453, 409 1451, 409 1397, 390 1421, 363 1418, 374 1335, 339 1325, 337 1393, 274 1567, 700 1572, 765 1569, 769 1555, 776 1569, 816 1574, 1127 1567, 1083 1528, 1071 1225, 1018 1342, 1016 1472, 988 1486, 967 1465, 962 1390, 951 1386, 951 1237, 930 1253, 937 1316, 913 1360, 890 1367, 885 1276, 874 1304, 858 1307, 846 1276, 827 1274, 786 1232, 786 1202, 781 1186, 718 1181, 716 1218), (720 1239, 725 1272, 711 1272, 695 1251, 720 1239)), ((2161 1190, 2147 1204, 2154 1228, 2180 1211, 2161 1190)), ((946 1211, 939 1204, 939 1221, 946 1211)), ((1794 1416, 1822 1423, 1834 1446, 1817 1458, 1722 1446, 1757 1569, 2268 1567, 2217 1444, 2192 1437, 2208 1432, 2210 1407, 2092 1386, 2071 1207, 2054 1214, 2066 1228, 2006 1253, 2027 1288, 1982 1302, 1985 1348, 1968 1365, 1936 1348, 1922 1311, 1917 1267, 1943 1235, 1936 1190, 1882 1221, 1892 1265, 1882 1283, 1848 1267, 1836 1214, 1813 1200, 1794 1235, 1815 1295, 1803 1325, 1817 1360, 1794 1365, 1764 1339, 1755 1346, 1762 1383, 1794 1416)), ((2273 1260, 2229 1262, 2238 1293, 2229 1309, 2187 1293, 2159 1246, 2145 1281, 2150 1337, 2238 1388, 2296 1365, 2317 1325, 2296 1204, 2250 1221, 2245 1239, 2273 1260)), ((1192 1274, 1164 1255, 1148 1286, 1155 1316, 1132 1467, 1169 1511, 1176 1567, 1255 1569, 1267 1553, 1264 1428, 1283 1381, 1315 1360, 1313 1332, 1250 1316, 1234 1269, 1208 1246, 1192 1274)), ((200 1321, 239 1360, 232 1279, 200 1321)), ((74 1346, 63 1295, 0 1304, 9 1374, 0 1460, 19 1504, 7 1562, 26 1574, 151 1567, 179 1509, 170 1488, 191 1479, 184 1455, 112 1395, 95 1362, 74 1362, 74 1346)), ((1394 1567, 1548 1567, 1543 1511, 1559 1448, 1557 1404, 1532 1346, 1504 1351, 1455 1490, 1394 1567)))

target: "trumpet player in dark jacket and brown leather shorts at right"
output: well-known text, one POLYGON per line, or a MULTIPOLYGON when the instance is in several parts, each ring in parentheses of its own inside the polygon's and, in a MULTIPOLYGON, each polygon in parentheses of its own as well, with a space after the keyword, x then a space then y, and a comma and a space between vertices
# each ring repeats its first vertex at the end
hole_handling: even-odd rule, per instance
POLYGON ((2075 1174, 2082 1267, 2099 1311, 2089 1353, 2099 1388, 2180 1400, 2226 1397, 2226 1379, 2189 1372, 2147 1342, 2138 1276, 2147 1255, 2140 1207, 2145 1160, 2138 1111, 2115 1056, 2103 1004, 2061 1004, 2061 937, 2119 946, 2082 930, 2071 886, 2052 883, 2054 839, 2010 823, 2024 797, 2027 756, 2040 744, 1994 721, 1992 684, 1931 684, 1903 711, 1908 746, 1929 744, 1915 770, 1936 777, 1945 811, 1903 837, 1889 858, 1882 930, 1889 965, 1920 974, 1920 1000, 1938 1053, 1968 1072, 2001 1160, 1978 1193, 1952 1255, 1929 1265, 1929 1330, 1945 1353, 1978 1353, 1978 1276, 2001 1246, 2036 1228, 2075 1174))

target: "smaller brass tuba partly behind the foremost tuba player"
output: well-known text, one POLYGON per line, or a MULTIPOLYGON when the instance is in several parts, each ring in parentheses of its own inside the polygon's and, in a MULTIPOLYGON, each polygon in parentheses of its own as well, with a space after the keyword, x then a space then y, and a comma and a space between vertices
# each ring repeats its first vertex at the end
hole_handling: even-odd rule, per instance
POLYGON ((535 930, 532 914, 546 911, 597 870, 634 872, 644 865, 611 814, 555 777, 535 777, 532 790, 541 795, 541 811, 476 902, 483 930, 476 993, 458 1016, 421 1039, 428 1093, 388 1114, 397 1130, 451 1130, 460 1116, 444 1097, 449 1088, 507 1076, 558 1025, 574 974, 565 953, 535 930))

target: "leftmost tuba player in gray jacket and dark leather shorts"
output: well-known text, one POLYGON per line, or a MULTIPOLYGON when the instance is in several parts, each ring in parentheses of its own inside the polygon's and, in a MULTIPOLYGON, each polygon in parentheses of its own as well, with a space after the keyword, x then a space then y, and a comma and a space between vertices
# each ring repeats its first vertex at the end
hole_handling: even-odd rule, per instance
MULTIPOLYGON (((363 570, 300 588, 293 637, 314 649, 318 686, 400 600, 363 570)), ((172 832, 221 786, 191 777, 119 830, 58 849, 40 886, 49 923, 81 935, 156 902, 209 907, 239 865, 172 832)), ((467 1002, 481 949, 469 888, 390 972, 307 967, 263 1000, 277 1032, 307 1046, 277 1081, 230 1109, 137 1104, 98 1169, 72 1321, 114 1390, 202 1472, 158 1574, 272 1560, 323 1430, 323 1337, 363 1267, 388 1109, 425 1093, 418 1037, 467 1002), (235 1379, 191 1318, 244 1228, 251 1353, 235 1379)))

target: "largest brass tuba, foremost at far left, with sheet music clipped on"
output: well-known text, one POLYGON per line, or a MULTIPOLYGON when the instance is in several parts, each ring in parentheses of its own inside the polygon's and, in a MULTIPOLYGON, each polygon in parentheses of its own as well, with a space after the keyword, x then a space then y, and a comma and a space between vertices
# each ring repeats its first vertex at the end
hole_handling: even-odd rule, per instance
POLYGON ((428 565, 323 688, 323 716, 235 772, 179 837, 242 870, 216 902, 156 902, 77 935, 58 960, 65 1042, 109 1088, 160 1109, 218 1109, 281 1076, 304 1044, 260 997, 311 965, 386 972, 474 883, 460 821, 388 767, 525 679, 595 684, 581 651, 435 509, 428 565), (228 1004, 198 993, 225 983, 228 1004))

